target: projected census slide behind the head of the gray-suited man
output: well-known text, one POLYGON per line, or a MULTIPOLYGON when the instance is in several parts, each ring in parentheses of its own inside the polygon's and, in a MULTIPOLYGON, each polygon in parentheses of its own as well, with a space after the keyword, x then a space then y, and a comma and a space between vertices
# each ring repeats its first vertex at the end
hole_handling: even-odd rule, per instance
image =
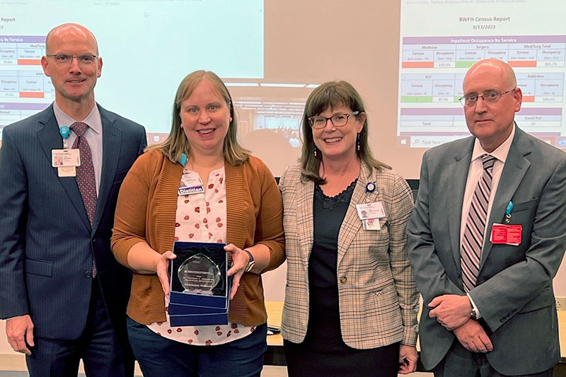
POLYGON ((398 146, 430 148, 470 135, 462 81, 493 58, 514 68, 519 127, 566 148, 566 28, 559 0, 401 1, 398 146))

